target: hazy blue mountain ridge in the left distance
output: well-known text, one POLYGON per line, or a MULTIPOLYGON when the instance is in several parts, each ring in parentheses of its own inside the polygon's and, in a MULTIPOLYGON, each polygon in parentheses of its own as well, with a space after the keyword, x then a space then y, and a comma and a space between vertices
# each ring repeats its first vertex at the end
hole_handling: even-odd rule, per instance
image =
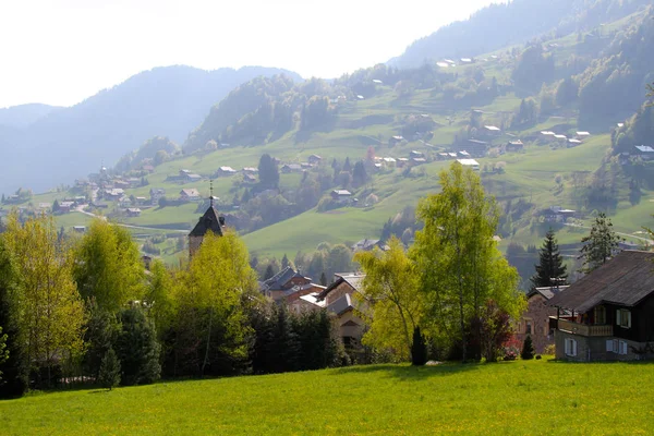
MULTIPOLYGON (((280 73, 301 80, 295 73, 263 66, 215 71, 182 65, 156 68, 73 107, 33 117, 34 122, 23 122, 17 132, 0 131, 5 135, 0 137, 0 192, 19 186, 43 191, 71 183, 102 162, 113 165, 155 135, 181 143, 209 108, 235 86, 280 73)), ((9 111, 14 113, 16 109, 9 111)), ((13 126, 17 126, 15 121, 13 126)))

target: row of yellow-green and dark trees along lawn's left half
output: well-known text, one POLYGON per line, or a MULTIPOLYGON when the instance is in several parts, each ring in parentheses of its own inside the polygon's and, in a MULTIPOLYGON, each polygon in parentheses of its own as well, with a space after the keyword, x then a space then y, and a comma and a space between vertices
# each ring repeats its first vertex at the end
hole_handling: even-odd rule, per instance
POLYGON ((121 227, 62 235, 52 218, 13 214, 0 235, 0 396, 348 362, 327 313, 270 304, 233 232, 207 235, 187 265, 146 269, 121 227), (301 350, 288 365, 274 356, 282 342, 301 350))

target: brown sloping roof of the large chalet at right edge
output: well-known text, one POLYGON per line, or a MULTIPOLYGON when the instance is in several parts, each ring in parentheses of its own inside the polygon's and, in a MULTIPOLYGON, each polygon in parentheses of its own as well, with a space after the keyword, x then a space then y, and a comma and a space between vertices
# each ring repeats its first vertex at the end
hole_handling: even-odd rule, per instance
POLYGON ((601 304, 634 306, 654 292, 654 253, 623 251, 556 294, 549 305, 585 313, 601 304))

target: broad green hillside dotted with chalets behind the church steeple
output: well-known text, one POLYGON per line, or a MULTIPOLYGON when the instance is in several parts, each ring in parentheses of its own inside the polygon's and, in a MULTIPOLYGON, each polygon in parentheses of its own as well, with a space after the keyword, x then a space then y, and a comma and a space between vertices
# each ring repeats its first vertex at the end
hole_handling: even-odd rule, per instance
MULTIPOLYGON (((638 120, 627 119, 645 100, 643 84, 650 81, 651 60, 641 53, 644 47, 654 47, 653 16, 651 10, 640 9, 593 32, 561 32, 457 65, 414 70, 376 65, 331 83, 256 78, 216 105, 190 134, 182 152, 153 173, 140 173, 138 166, 133 166, 132 175, 146 178, 148 184, 128 189, 125 194, 147 197, 155 187, 165 189, 167 197, 175 199, 182 189, 195 187, 207 198, 209 179, 214 179, 217 206, 228 216, 228 223, 244 234, 251 253, 280 257, 312 252, 320 242, 379 238, 389 218, 438 191, 437 174, 453 160, 441 160, 440 153, 472 150, 475 141, 483 141, 487 152, 476 159, 487 192, 504 210, 498 229, 502 247, 511 242, 540 244, 553 226, 559 241, 571 250, 596 211, 607 211, 616 230, 629 241, 643 243, 642 226, 654 227, 650 207, 654 167, 637 162, 645 175, 634 187, 634 167, 618 162, 616 152, 616 144, 625 147, 631 140, 615 133, 618 122, 628 123, 620 132, 634 131, 638 120), (616 66, 620 62, 628 66, 616 66), (605 76, 611 69, 618 73, 597 82, 597 75, 605 76), (642 87, 640 92, 634 90, 637 85, 642 87), (597 99, 592 89, 603 98, 597 99), (620 104, 610 112, 616 99, 620 104), (486 132, 486 125, 498 126, 500 133, 486 132), (590 136, 583 136, 579 145, 541 133, 576 137, 582 130, 590 136), (397 135, 403 140, 393 142, 397 135), (524 148, 504 153, 507 143, 517 140, 524 148), (371 149, 377 158, 408 158, 416 150, 424 154, 426 162, 410 171, 387 165, 374 170, 371 149), (322 156, 323 161, 306 175, 282 173, 272 211, 269 202, 252 199, 265 186, 247 185, 241 174, 216 174, 221 166, 237 170, 256 167, 263 154, 279 159, 280 166, 306 162, 312 154, 322 156), (368 159, 365 182, 343 185, 337 180, 331 164, 336 159, 340 168, 346 158, 352 166, 368 159), (202 181, 170 181, 182 169, 202 175, 202 181), (307 183, 318 183, 319 195, 301 202, 300 193, 307 183), (356 204, 331 210, 316 207, 320 196, 343 187, 359 199, 356 204), (377 203, 367 201, 371 194, 377 203), (249 197, 245 203, 241 201, 244 196, 249 197), (542 211, 552 206, 574 209, 577 218, 568 226, 543 222, 542 211)), ((65 195, 72 192, 37 195, 32 203, 65 195)), ((146 206, 135 218, 112 207, 104 214, 140 228, 134 229, 138 234, 147 234, 152 228, 172 238, 189 231, 206 205, 205 201, 199 205, 146 206)), ((87 217, 70 214, 58 219, 63 226, 73 226, 83 225, 87 217)), ((169 262, 177 258, 175 247, 182 249, 171 241, 161 246, 166 249, 161 255, 169 262)))

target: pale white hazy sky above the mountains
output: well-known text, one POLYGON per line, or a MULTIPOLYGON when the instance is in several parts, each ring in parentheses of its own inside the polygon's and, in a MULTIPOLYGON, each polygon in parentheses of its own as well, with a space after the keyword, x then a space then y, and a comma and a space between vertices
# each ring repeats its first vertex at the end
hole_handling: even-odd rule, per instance
POLYGON ((70 106, 154 66, 335 77, 498 0, 0 0, 0 108, 70 106))

